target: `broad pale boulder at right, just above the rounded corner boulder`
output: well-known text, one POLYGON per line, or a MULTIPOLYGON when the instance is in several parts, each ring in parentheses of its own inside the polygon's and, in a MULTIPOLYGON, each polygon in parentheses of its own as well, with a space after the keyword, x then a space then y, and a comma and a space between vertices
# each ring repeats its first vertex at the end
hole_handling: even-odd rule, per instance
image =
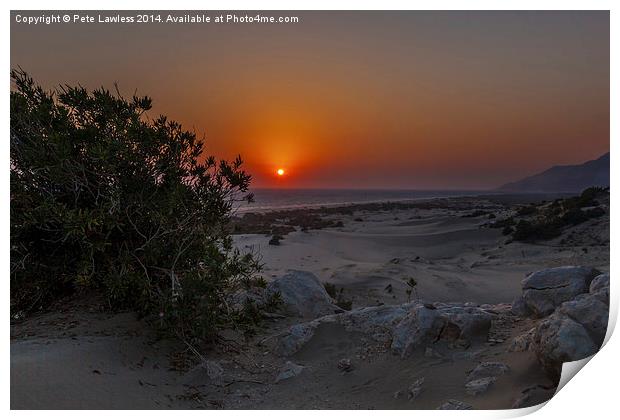
POLYGON ((563 302, 589 290, 592 280, 600 274, 589 267, 565 266, 537 271, 521 283, 527 310, 537 318, 553 313, 563 302))

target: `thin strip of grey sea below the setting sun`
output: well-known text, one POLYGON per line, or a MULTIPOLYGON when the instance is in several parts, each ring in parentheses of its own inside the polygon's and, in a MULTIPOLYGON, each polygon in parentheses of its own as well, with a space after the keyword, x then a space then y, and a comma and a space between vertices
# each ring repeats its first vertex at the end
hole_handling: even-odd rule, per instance
POLYGON ((347 204, 406 202, 429 198, 489 194, 483 190, 378 190, 378 189, 275 189, 258 188, 253 203, 239 204, 238 213, 295 208, 334 207, 347 204))

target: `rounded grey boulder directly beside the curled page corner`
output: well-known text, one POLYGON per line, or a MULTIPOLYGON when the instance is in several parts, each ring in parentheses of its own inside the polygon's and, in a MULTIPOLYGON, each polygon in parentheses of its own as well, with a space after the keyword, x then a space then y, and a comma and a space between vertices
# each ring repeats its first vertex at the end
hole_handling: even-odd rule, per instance
POLYGON ((559 379, 562 363, 591 356, 598 350, 583 325, 569 317, 554 315, 538 326, 533 348, 543 368, 559 379))

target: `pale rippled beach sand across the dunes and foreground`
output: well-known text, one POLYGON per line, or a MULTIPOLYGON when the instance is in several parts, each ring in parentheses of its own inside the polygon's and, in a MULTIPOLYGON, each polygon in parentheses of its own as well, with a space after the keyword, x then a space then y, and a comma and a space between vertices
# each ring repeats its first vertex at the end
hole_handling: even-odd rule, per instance
MULTIPOLYGON (((492 206, 500 218, 519 200, 478 200, 443 208, 332 212, 325 217, 342 221, 342 227, 299 229, 279 246, 269 245, 271 236, 263 234, 236 235, 235 244, 261 255, 265 277, 311 271, 342 287, 354 308, 407 301, 405 283, 411 277, 422 301, 510 303, 520 294, 520 281, 534 270, 569 264, 609 270, 608 217, 553 241, 506 243, 501 229, 485 227, 487 215, 463 217, 471 213, 463 208, 492 206)), ((538 387, 541 402, 555 387, 533 354, 508 351, 511 339, 531 328, 528 320, 501 326, 501 342, 444 349, 445 357, 420 351, 401 359, 337 326, 321 327, 300 352, 280 357, 273 352, 273 337, 295 322, 267 320, 249 339, 227 333, 221 345, 203 354, 223 369, 212 377, 204 366, 183 366, 182 361, 195 360, 192 353, 157 337, 134 314, 68 304, 63 311, 12 323, 11 407, 432 409, 454 398, 489 409, 510 408, 531 387, 538 387), (352 360, 351 372, 337 368, 342 358, 352 360), (289 360, 305 369, 275 383, 289 360), (480 361, 504 362, 511 372, 473 397, 464 382, 480 361), (420 377, 424 391, 409 400, 406 390, 420 377), (404 396, 395 398, 399 392, 404 396)))

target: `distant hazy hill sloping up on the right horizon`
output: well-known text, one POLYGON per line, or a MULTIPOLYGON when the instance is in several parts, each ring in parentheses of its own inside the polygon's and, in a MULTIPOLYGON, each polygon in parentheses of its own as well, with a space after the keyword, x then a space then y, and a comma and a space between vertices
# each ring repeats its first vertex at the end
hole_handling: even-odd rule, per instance
POLYGON ((554 166, 536 175, 498 188, 512 192, 579 192, 609 186, 609 153, 581 165, 554 166))

